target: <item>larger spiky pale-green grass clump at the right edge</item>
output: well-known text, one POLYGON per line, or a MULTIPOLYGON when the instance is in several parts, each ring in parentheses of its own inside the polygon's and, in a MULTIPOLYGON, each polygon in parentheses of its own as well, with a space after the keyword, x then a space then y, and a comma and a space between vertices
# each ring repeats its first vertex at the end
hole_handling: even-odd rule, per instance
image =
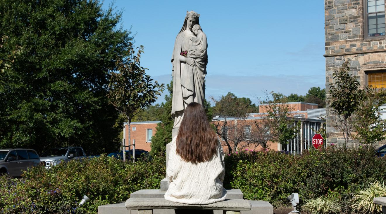
POLYGON ((386 185, 383 181, 369 183, 364 189, 354 193, 350 200, 351 208, 359 213, 381 213, 381 206, 372 202, 374 197, 386 197, 386 185))

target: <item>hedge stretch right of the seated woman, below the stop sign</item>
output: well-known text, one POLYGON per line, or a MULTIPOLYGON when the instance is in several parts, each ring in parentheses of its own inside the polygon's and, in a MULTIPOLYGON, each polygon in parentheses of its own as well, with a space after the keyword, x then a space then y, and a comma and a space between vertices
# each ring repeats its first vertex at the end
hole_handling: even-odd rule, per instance
POLYGON ((225 156, 224 186, 275 207, 288 205, 286 197, 294 192, 301 201, 332 195, 340 201, 342 212, 350 212, 348 201, 359 187, 386 178, 386 158, 374 154, 372 147, 328 147, 301 155, 239 151, 225 156))

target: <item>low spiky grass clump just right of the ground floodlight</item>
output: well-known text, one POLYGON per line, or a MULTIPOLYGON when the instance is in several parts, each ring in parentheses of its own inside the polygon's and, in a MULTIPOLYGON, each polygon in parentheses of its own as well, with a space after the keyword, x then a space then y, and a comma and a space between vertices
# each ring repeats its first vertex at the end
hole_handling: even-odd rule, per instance
POLYGON ((315 199, 305 200, 301 210, 310 214, 340 213, 340 204, 337 201, 320 196, 315 199))

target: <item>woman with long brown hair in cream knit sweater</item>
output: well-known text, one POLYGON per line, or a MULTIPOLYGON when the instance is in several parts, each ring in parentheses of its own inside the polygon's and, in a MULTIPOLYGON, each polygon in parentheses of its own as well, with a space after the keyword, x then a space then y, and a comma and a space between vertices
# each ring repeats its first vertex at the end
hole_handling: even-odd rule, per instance
POLYGON ((188 104, 169 152, 165 199, 184 204, 225 200, 224 165, 222 146, 204 108, 196 102, 188 104))

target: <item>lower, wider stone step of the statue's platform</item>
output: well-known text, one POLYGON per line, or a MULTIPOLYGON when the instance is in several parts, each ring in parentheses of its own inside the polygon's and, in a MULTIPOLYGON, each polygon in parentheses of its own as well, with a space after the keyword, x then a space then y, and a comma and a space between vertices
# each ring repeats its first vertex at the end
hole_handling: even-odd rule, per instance
MULTIPOLYGON (((273 206, 267 201, 249 201, 251 210, 241 211, 241 214, 273 214, 273 206)), ((155 209, 153 214, 175 214, 174 209, 155 209)), ((138 210, 128 210, 125 202, 98 206, 98 214, 138 214, 138 210)), ((214 210, 213 214, 223 214, 222 210, 214 210)))

